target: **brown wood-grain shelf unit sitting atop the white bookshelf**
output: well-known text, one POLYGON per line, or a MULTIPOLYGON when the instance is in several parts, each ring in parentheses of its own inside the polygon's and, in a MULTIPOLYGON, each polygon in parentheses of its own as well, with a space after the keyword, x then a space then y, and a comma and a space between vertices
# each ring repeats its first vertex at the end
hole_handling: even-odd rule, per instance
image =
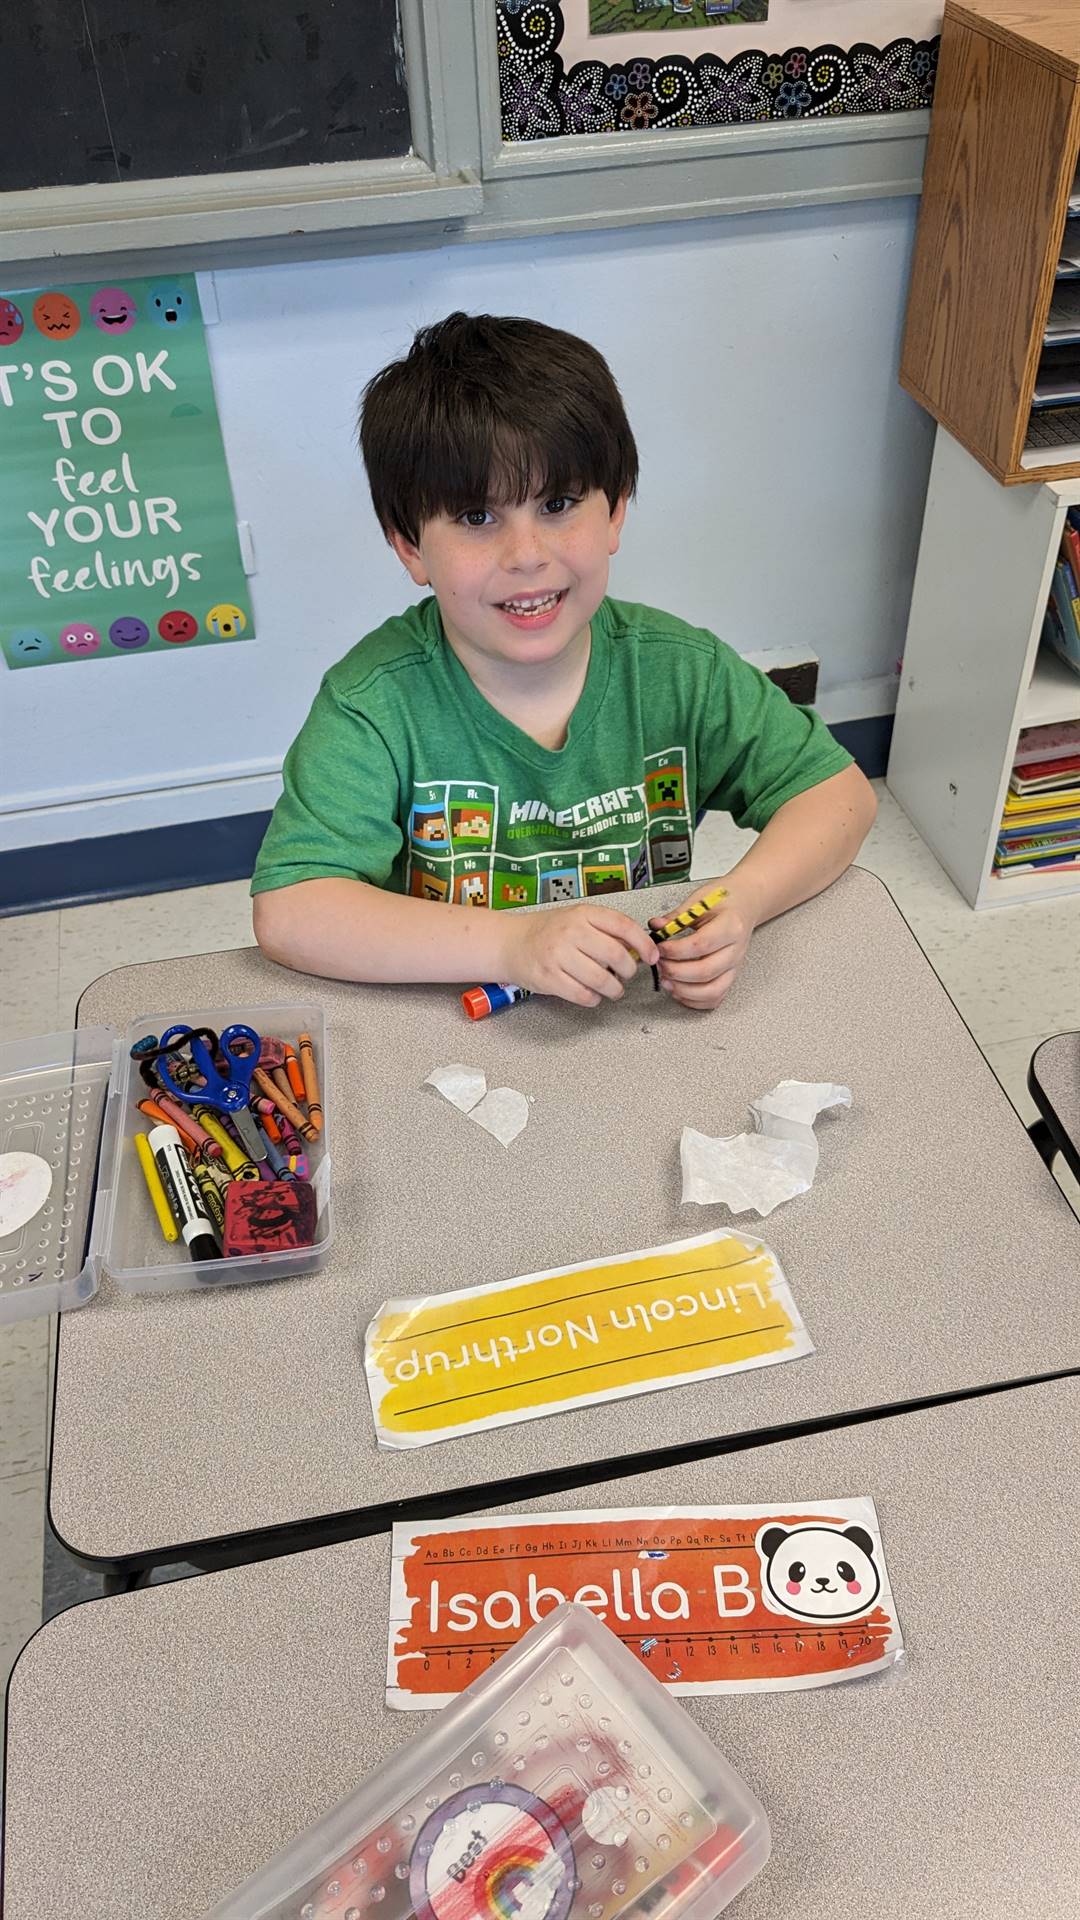
POLYGON ((945 0, 899 378, 1007 486, 1080 476, 1078 161, 1080 0, 945 0))

